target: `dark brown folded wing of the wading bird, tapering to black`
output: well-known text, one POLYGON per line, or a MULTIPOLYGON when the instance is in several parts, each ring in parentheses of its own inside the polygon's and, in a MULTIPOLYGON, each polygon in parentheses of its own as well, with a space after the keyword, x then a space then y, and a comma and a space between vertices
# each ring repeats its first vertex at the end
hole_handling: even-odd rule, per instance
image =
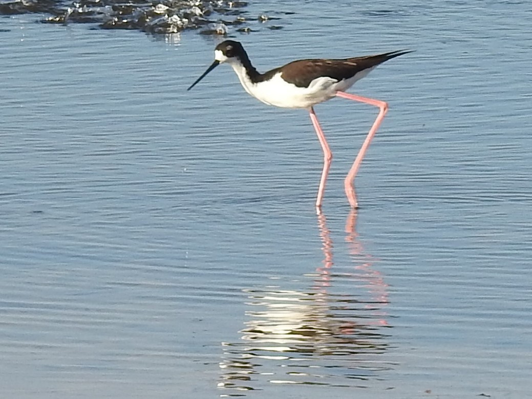
POLYGON ((349 79, 355 74, 382 64, 400 55, 411 53, 400 50, 390 53, 369 55, 365 57, 345 58, 345 60, 301 60, 294 61, 281 68, 276 68, 263 74, 271 78, 282 71, 282 79, 295 84, 297 87, 309 87, 310 82, 319 77, 329 77, 337 81, 349 79))

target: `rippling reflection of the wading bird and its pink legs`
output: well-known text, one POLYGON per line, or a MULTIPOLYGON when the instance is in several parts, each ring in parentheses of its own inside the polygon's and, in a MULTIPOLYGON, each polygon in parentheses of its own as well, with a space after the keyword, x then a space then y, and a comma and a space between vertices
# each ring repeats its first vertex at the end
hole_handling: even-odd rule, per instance
POLYGON ((387 286, 356 233, 356 211, 346 221, 351 262, 343 268, 333 267, 325 215, 318 215, 318 226, 324 259, 310 288, 244 290, 252 310, 240 341, 222 343, 218 385, 227 390, 221 396, 244 396, 267 383, 365 387, 393 367, 382 356, 383 330, 390 327, 387 286))

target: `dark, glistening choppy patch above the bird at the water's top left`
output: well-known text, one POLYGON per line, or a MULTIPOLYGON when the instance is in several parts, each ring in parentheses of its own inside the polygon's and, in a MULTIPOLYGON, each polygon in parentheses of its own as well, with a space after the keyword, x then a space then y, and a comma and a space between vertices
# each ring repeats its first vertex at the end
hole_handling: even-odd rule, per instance
POLYGON ((279 26, 264 24, 279 20, 266 14, 250 15, 247 2, 227 0, 161 0, 160 2, 129 2, 122 0, 1 0, 0 15, 36 13, 43 23, 93 23, 102 29, 138 29, 150 33, 178 33, 198 30, 202 35, 225 35, 257 31, 279 26), (253 27, 253 29, 252 29, 253 27))

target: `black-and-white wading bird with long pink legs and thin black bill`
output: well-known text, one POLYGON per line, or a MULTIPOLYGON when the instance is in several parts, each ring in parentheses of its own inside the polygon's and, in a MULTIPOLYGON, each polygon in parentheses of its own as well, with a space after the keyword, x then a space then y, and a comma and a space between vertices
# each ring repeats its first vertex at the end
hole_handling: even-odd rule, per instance
POLYGON ((378 107, 377 118, 373 122, 344 180, 347 200, 351 207, 356 209, 359 205, 354 188, 354 179, 359 171, 365 152, 368 150, 371 140, 388 111, 388 104, 385 101, 349 94, 346 90, 353 86, 356 81, 364 78, 378 65, 411 52, 412 50, 397 50, 341 60, 325 58, 297 60, 268 72, 260 73, 252 65, 250 57, 248 57, 241 43, 235 40, 225 40, 215 47, 214 62, 211 66, 187 90, 196 86, 218 65, 229 64, 236 72, 244 90, 262 101, 262 103, 282 108, 307 109, 323 150, 323 169, 315 202, 318 214, 321 213, 323 193, 325 192, 329 174, 332 152, 321 129, 318 117, 314 112, 314 106, 331 98, 341 97, 378 107))

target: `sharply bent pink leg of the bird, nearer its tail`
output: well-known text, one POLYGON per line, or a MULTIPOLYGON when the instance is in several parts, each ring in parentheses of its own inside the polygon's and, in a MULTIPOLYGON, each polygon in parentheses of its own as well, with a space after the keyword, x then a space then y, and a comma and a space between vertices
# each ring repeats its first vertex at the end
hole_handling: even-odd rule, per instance
POLYGON ((386 112, 388 111, 388 104, 386 104, 384 101, 374 100, 372 98, 355 96, 353 94, 347 94, 347 93, 344 93, 343 91, 337 91, 336 95, 338 97, 347 98, 348 100, 360 101, 361 103, 375 105, 376 107, 379 107, 380 109, 379 114, 377 115, 375 122, 373 122, 373 126, 371 126, 371 129, 368 135, 366 136, 364 143, 362 144, 362 147, 360 148, 359 154, 356 156, 355 162, 353 163, 353 166, 351 166, 351 169, 349 173, 347 174, 347 176, 345 177, 345 181, 344 181, 345 194, 347 196, 347 199, 349 200, 349 203, 351 204, 353 208, 358 208, 358 202, 356 201, 355 188, 353 185, 356 172, 359 171, 360 164, 362 163, 362 159, 364 158, 365 152, 368 150, 371 139, 373 139, 373 136, 375 135, 375 133, 377 133, 377 129, 379 129, 380 123, 383 122, 384 115, 386 115, 386 112))

